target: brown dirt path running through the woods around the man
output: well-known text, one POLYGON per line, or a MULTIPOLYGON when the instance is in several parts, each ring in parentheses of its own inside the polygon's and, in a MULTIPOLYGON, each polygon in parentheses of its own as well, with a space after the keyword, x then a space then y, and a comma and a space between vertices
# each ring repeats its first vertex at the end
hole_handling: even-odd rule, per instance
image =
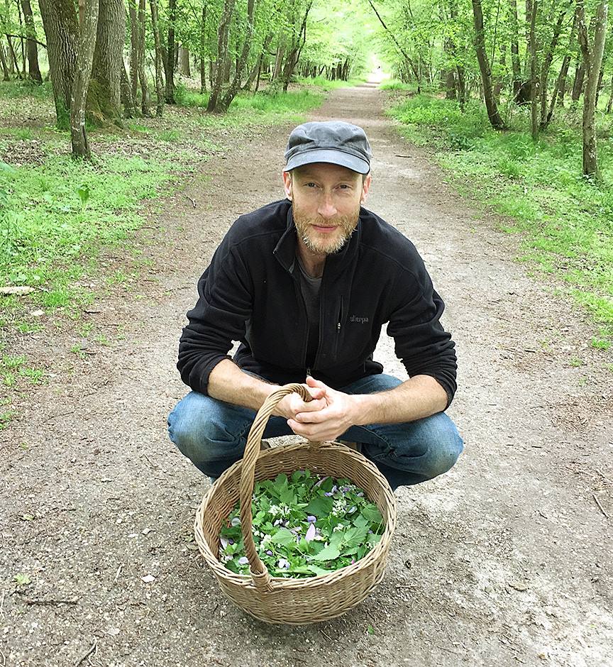
MULTIPOLYGON (((611 355, 582 343, 580 314, 526 277, 514 240, 451 194, 381 101, 341 90, 314 118, 370 136, 368 206, 412 238, 448 304, 460 361, 450 414, 466 441, 451 473, 399 492, 385 581, 326 624, 245 617, 194 551, 208 483, 165 434, 186 391, 174 363, 195 280, 238 214, 282 194, 288 128, 276 128, 209 162, 211 180, 186 191, 196 208, 174 197, 155 246, 143 233, 158 282, 90 315, 123 339, 77 364, 68 334, 23 343, 57 376, 0 434, 0 665, 74 666, 94 644, 82 664, 612 664, 611 355), (17 592, 18 573, 31 583, 17 592)), ((402 375, 387 341, 379 358, 402 375)))

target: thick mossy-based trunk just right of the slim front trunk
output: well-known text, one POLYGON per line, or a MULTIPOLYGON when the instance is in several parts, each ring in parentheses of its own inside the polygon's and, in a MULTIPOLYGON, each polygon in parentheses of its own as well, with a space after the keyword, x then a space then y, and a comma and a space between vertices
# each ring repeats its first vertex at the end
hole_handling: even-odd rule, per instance
POLYGON ((104 125, 121 126, 121 70, 126 38, 123 0, 99 0, 98 35, 94 50, 92 80, 87 99, 88 115, 104 125))

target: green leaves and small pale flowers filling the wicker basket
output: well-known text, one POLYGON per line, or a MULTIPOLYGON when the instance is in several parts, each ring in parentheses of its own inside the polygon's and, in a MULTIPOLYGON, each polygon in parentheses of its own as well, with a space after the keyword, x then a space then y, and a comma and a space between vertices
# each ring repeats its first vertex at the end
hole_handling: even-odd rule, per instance
MULTIPOLYGON (((238 505, 221 530, 219 558, 249 573, 238 505)), ((324 575, 363 558, 381 539, 383 519, 350 480, 319 478, 309 470, 281 473, 255 484, 253 540, 274 577, 324 575)))

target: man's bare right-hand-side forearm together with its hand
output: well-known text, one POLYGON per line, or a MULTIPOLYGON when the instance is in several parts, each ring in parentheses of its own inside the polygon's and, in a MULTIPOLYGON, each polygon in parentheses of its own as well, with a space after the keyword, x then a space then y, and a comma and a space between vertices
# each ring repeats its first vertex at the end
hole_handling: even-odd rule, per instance
POLYGON ((318 412, 300 412, 287 423, 294 433, 314 441, 334 440, 351 426, 423 419, 443 412, 447 406, 446 390, 431 375, 416 375, 376 394, 343 394, 313 377, 307 377, 306 382, 324 391, 326 407, 318 412))

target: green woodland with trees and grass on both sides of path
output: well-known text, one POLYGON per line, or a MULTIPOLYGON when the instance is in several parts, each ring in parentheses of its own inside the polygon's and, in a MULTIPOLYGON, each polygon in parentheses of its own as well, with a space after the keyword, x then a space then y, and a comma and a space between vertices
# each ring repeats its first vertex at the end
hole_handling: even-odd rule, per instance
MULTIPOLYGON (((504 215, 529 272, 587 309, 588 343, 606 351, 607 14, 604 0, 2 0, 0 424, 48 381, 19 336, 72 322, 74 354, 87 347, 88 277, 101 248, 143 225, 143 199, 181 189, 250 127, 299 122, 326 90, 369 76, 400 131, 504 215)), ((135 256, 106 283, 147 268, 135 256)))

